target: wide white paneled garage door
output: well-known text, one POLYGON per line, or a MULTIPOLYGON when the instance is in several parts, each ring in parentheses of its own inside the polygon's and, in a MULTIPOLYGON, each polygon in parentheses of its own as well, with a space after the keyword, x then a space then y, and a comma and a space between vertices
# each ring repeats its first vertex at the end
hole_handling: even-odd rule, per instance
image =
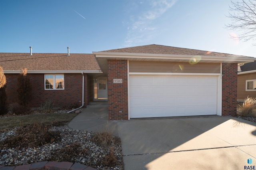
POLYGON ((216 115, 217 76, 130 75, 130 118, 216 115))

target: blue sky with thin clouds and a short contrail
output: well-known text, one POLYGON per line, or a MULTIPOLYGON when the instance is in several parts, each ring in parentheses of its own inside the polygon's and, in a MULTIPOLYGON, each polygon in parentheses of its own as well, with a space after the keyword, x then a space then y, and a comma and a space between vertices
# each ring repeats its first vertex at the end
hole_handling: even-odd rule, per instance
POLYGON ((159 44, 256 57, 225 28, 230 0, 0 0, 0 52, 92 53, 159 44))

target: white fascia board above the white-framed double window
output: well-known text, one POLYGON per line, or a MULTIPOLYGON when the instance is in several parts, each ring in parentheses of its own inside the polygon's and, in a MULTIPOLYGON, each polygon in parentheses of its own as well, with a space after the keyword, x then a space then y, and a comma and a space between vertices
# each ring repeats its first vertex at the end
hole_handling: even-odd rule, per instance
MULTIPOLYGON (((4 70, 4 73, 20 73, 20 70, 4 70)), ((27 73, 103 73, 101 70, 28 70, 27 73)))

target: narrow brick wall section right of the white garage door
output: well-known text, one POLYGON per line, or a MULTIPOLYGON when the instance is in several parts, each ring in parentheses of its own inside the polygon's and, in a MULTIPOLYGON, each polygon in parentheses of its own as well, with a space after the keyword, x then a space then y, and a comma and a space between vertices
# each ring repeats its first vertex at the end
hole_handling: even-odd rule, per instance
POLYGON ((235 116, 237 63, 222 63, 222 74, 222 116, 235 116))

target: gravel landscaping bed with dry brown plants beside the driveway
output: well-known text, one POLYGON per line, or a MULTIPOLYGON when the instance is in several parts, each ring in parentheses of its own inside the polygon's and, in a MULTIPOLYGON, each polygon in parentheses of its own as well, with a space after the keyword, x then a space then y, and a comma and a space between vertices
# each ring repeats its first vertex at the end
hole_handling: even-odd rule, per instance
POLYGON ((68 125, 51 125, 40 135, 26 134, 28 132, 24 129, 34 128, 33 132, 36 132, 40 129, 37 126, 16 127, 0 133, 0 165, 66 161, 98 170, 124 169, 120 138, 114 137, 107 146, 103 146, 95 140, 95 132, 74 130, 68 125))

